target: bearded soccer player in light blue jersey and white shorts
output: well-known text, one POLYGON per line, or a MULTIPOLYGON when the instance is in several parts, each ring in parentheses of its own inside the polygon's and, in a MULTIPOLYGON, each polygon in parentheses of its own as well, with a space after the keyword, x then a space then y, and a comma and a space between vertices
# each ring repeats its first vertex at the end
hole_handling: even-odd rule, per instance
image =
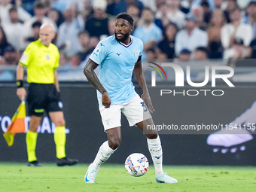
MULTIPOLYGON (((99 166, 108 160, 121 142, 121 112, 130 126, 154 125, 150 112, 154 111, 145 78, 142 72, 143 43, 130 35, 133 32, 133 17, 121 13, 116 17, 114 35, 100 41, 84 68, 84 75, 96 87, 99 111, 108 141, 104 142, 93 163, 87 169, 84 180, 94 183, 99 166), (99 78, 94 69, 99 66, 99 78), (142 98, 134 90, 132 75, 143 90, 142 98), (148 108, 145 102, 148 103, 148 108), (149 112, 150 111, 150 112, 149 112)), ((163 172, 162 146, 157 131, 145 133, 148 149, 154 162, 156 180, 160 183, 176 183, 175 178, 163 172)))

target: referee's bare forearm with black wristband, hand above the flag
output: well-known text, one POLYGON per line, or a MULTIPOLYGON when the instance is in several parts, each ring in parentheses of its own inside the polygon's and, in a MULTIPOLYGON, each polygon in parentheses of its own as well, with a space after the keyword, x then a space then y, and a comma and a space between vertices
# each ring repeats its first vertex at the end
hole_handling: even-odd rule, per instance
POLYGON ((24 67, 20 64, 17 66, 16 79, 17 79, 17 96, 25 101, 26 90, 23 87, 23 78, 24 78, 24 67))

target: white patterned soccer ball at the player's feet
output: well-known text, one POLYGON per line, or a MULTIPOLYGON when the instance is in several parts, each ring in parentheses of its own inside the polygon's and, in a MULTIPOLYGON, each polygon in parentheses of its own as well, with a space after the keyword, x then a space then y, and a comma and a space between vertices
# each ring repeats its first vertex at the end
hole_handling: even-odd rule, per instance
POLYGON ((148 172, 148 159, 144 154, 130 154, 124 163, 126 171, 135 177, 140 177, 148 172))

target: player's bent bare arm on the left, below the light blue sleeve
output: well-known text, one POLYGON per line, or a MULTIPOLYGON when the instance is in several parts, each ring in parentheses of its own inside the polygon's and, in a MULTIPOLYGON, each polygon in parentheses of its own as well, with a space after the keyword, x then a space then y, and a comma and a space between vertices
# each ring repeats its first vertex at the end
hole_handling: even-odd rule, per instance
POLYGON ((111 99, 108 96, 107 90, 105 90, 105 88, 99 82, 99 78, 94 72, 94 69, 96 69, 97 66, 98 65, 95 62, 93 62, 91 59, 88 59, 87 64, 84 67, 84 75, 87 77, 87 80, 90 82, 90 84, 99 90, 100 93, 102 93, 102 105, 104 105, 105 108, 109 108, 111 105, 111 99))

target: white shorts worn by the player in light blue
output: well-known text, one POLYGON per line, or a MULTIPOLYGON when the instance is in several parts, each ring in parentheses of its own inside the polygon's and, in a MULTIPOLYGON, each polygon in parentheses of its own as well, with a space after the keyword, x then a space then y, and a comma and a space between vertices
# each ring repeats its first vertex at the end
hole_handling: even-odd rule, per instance
POLYGON ((99 111, 102 116, 104 130, 121 126, 121 112, 126 116, 130 126, 135 126, 136 123, 152 118, 148 107, 139 95, 128 102, 111 105, 110 108, 99 105, 99 111))

